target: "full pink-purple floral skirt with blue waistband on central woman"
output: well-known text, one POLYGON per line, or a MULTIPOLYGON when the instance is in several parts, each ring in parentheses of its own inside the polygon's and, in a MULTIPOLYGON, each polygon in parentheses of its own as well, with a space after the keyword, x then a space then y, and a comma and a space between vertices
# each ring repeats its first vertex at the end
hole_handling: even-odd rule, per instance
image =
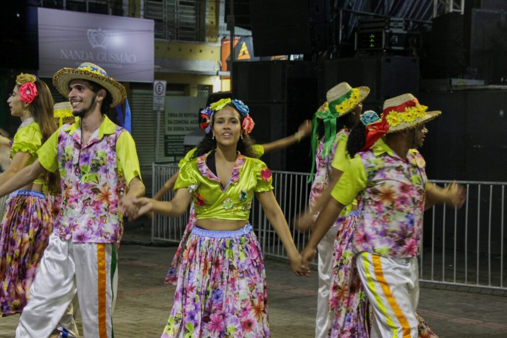
POLYGON ((194 227, 177 276, 162 338, 270 337, 266 272, 250 224, 237 231, 194 227))

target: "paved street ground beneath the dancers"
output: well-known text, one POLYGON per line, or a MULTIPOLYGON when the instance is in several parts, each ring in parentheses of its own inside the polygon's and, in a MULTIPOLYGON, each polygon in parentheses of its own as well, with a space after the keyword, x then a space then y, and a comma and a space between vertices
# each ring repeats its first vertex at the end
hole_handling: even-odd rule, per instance
MULTIPOLYGON (((175 247, 122 245, 115 337, 158 337, 172 304, 173 286, 163 283, 175 247)), ((284 262, 266 259, 271 333, 307 338, 314 332, 316 272, 298 278, 284 262)), ((467 293, 423 285, 419 314, 440 337, 507 336, 507 296, 467 293)), ((496 293, 496 294, 495 294, 496 293)), ((13 337, 19 316, 0 318, 0 336, 13 337)))

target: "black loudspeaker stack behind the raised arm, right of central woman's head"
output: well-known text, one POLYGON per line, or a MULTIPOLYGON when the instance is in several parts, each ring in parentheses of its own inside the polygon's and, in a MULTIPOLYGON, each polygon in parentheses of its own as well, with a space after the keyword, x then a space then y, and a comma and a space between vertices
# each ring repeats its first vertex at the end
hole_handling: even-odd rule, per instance
MULTIPOLYGON (((234 62, 233 72, 233 97, 250 108, 257 143, 295 133, 318 108, 317 69, 310 61, 234 62)), ((309 154, 305 141, 262 159, 273 170, 309 172, 309 154)))

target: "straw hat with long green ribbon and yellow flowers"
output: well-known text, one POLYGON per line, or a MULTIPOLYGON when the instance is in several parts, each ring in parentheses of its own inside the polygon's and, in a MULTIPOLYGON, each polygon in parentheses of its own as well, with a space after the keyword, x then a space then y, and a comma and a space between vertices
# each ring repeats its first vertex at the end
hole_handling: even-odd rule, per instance
POLYGON ((313 171, 315 170, 315 152, 317 149, 317 119, 323 120, 324 123, 324 148, 323 154, 328 155, 331 145, 335 140, 336 119, 341 118, 351 112, 359 103, 363 102, 370 94, 370 88, 361 86, 352 88, 348 83, 342 82, 331 88, 327 95, 327 101, 322 104, 312 119, 312 171, 308 182, 312 180, 313 171))

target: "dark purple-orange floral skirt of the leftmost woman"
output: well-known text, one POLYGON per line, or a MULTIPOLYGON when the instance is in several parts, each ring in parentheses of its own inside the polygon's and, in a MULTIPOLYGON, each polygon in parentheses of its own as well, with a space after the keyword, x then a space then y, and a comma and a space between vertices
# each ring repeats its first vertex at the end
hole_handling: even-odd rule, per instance
POLYGON ((20 313, 37 273, 53 215, 43 193, 18 190, 11 194, 0 235, 0 317, 20 313))

